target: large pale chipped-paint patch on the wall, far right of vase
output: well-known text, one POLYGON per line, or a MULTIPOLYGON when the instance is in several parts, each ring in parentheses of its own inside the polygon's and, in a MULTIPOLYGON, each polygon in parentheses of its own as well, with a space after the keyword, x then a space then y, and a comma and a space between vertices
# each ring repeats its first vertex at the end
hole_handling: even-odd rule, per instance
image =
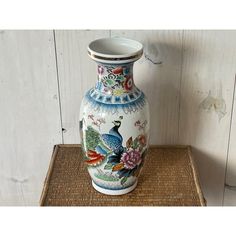
POLYGON ((209 90, 208 96, 200 103, 199 107, 205 111, 214 111, 219 118, 219 121, 226 115, 226 103, 222 97, 222 91, 220 90, 218 97, 213 97, 211 90, 209 90))

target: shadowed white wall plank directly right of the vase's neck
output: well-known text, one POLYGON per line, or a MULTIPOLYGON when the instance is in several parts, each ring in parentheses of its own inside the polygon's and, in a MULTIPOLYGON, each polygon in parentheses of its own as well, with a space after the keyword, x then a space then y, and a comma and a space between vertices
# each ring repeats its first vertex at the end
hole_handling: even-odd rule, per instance
POLYGON ((111 31, 143 43, 144 55, 135 63, 134 80, 150 103, 152 144, 178 142, 182 31, 111 31))

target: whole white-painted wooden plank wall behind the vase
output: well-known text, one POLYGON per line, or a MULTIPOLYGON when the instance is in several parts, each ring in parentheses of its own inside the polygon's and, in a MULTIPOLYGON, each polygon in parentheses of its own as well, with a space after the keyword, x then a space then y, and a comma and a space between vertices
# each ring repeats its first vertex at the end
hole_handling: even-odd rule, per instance
POLYGON ((236 31, 0 31, 0 205, 37 205, 53 145, 79 143, 90 41, 144 44, 152 144, 190 144, 208 205, 236 205, 236 31), (226 187, 225 187, 226 184, 226 187))

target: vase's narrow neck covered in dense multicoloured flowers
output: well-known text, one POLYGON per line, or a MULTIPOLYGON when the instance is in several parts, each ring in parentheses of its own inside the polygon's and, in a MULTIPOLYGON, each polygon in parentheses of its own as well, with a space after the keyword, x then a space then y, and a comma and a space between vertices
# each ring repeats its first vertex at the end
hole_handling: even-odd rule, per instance
POLYGON ((119 65, 99 63, 97 73, 95 90, 99 93, 120 96, 132 92, 135 88, 133 62, 119 65))

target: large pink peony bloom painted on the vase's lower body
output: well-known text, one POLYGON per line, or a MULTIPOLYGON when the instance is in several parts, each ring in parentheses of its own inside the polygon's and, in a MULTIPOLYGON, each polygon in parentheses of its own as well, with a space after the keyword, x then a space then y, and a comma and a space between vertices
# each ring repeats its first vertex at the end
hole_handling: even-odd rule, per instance
POLYGON ((122 154, 120 161, 124 164, 124 168, 132 170, 141 163, 142 159, 138 151, 130 149, 122 154))

